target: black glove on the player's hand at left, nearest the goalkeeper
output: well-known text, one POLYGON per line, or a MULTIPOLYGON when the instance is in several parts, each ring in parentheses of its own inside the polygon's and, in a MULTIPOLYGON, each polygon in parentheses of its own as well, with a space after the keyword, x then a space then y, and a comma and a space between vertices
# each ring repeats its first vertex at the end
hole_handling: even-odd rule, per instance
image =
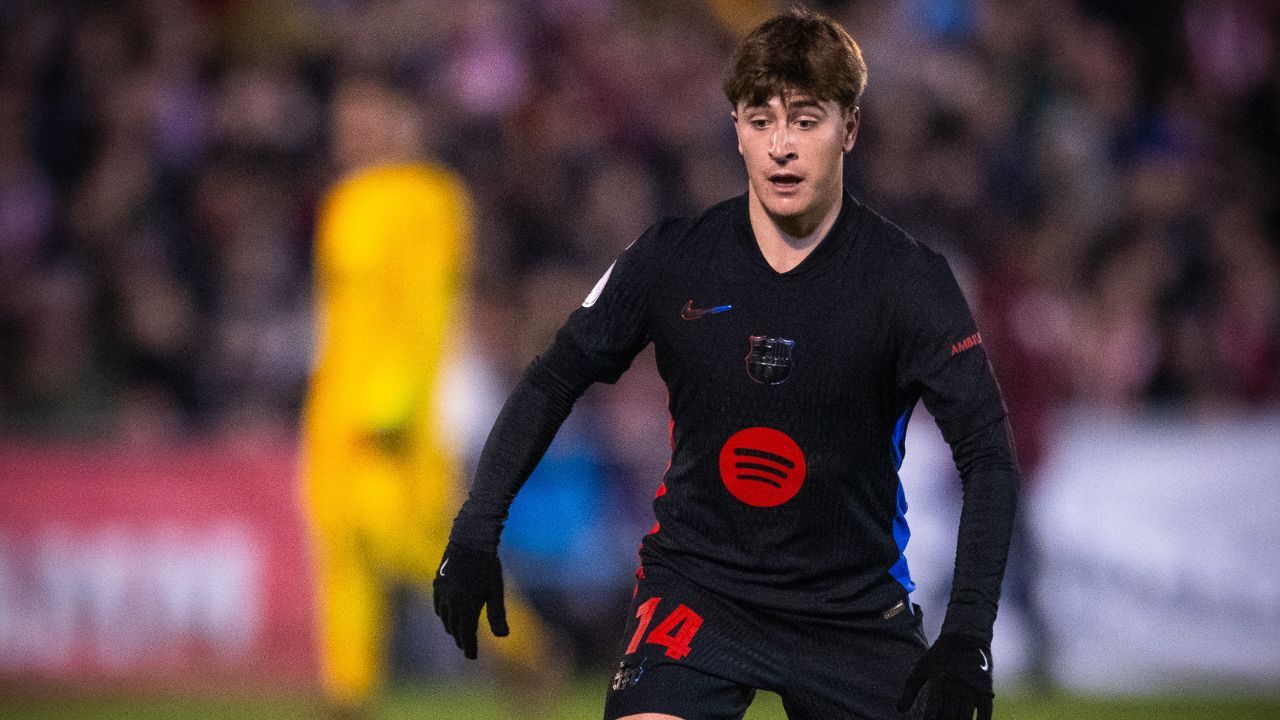
POLYGON ((498 553, 458 547, 452 542, 444 548, 440 569, 431 584, 435 614, 444 623, 444 630, 468 659, 476 659, 476 628, 480 609, 489 606, 489 629, 504 638, 507 609, 502 600, 502 562, 498 553))

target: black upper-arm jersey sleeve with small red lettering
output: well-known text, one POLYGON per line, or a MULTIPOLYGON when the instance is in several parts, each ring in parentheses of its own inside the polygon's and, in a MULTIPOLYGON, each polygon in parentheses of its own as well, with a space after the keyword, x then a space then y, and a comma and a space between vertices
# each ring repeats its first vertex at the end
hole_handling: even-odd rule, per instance
POLYGON ((982 334, 947 261, 920 251, 906 268, 897 314, 897 389, 924 400, 951 445, 1005 416, 982 334))

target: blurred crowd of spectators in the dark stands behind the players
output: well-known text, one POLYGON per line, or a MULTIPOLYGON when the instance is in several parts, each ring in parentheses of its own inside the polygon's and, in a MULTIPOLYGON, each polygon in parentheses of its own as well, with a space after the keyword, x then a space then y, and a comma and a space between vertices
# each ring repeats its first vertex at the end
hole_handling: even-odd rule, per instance
MULTIPOLYGON (((948 255, 1015 421, 1280 401, 1280 5, 812 5, 870 69, 847 184, 948 255)), ((781 6, 0 3, 0 432, 292 432, 348 73, 470 186, 509 378, 648 224, 745 190, 722 73, 781 6)))

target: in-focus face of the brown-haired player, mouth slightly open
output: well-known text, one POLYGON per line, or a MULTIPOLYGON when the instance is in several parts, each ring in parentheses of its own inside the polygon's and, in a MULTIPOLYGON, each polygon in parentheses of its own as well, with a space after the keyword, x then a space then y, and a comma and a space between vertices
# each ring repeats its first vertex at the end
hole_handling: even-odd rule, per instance
POLYGON ((858 108, 794 95, 783 105, 740 102, 733 113, 737 151, 750 195, 774 220, 805 227, 841 199, 844 158, 858 137, 858 108))

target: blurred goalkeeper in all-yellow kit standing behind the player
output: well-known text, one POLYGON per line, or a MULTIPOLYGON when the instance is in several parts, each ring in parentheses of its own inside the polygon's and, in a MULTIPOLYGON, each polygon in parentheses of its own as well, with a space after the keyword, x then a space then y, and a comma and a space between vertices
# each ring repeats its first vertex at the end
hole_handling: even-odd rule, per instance
MULTIPOLYGON (((390 591, 429 588, 462 495, 438 384, 462 331, 470 208, 458 178, 420 160, 420 136, 411 100, 389 85, 352 79, 335 92, 342 179, 319 217, 303 473, 337 716, 365 714, 385 674, 390 591)), ((549 676, 539 624, 508 611, 522 632, 499 657, 549 676)))

